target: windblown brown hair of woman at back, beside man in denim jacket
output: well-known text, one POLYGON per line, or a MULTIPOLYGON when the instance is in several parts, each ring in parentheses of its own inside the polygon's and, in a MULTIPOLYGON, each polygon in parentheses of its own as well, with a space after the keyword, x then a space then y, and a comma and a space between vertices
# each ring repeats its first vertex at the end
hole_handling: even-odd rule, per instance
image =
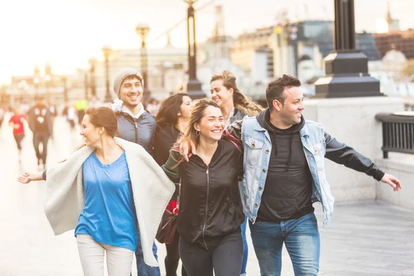
POLYGON ((240 92, 239 88, 237 88, 236 85, 236 77, 232 72, 224 70, 219 75, 213 75, 213 77, 211 77, 210 83, 219 79, 223 81, 223 86, 227 89, 233 88, 233 103, 235 105, 235 108, 244 111, 247 115, 250 116, 255 116, 264 110, 262 106, 254 103, 251 99, 240 92))

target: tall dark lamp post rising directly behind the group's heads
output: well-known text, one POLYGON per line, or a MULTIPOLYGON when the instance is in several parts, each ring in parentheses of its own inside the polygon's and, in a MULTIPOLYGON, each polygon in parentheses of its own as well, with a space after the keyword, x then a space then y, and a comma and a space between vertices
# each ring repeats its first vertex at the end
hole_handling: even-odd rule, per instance
POLYGON ((188 3, 187 8, 187 42, 188 42, 188 83, 187 92, 191 99, 206 97, 201 90, 201 82, 197 79, 197 46, 195 42, 195 14, 193 3, 198 0, 183 0, 188 3))

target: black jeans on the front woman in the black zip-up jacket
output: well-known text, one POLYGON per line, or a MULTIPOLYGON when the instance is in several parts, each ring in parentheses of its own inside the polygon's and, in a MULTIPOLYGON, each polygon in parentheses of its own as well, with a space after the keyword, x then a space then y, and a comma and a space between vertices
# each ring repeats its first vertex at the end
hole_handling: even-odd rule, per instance
POLYGON ((243 262, 243 239, 237 231, 226 235, 213 248, 179 240, 179 255, 189 276, 240 276, 243 262))

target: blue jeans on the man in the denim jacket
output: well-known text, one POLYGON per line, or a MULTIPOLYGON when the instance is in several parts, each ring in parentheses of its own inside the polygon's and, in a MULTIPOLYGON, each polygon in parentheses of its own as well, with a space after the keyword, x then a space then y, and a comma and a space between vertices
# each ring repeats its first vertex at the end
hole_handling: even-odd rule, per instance
POLYGON ((280 275, 283 244, 290 255, 295 275, 317 275, 320 240, 314 213, 280 222, 249 222, 249 226, 260 275, 280 275))

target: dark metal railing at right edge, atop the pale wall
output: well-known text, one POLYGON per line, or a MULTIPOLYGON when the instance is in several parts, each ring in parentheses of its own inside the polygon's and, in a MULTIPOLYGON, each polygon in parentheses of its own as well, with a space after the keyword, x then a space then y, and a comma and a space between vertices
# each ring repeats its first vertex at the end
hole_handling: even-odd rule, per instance
POLYGON ((382 122, 382 153, 384 158, 388 158, 388 152, 414 155, 413 115, 379 113, 375 115, 375 119, 382 122))

